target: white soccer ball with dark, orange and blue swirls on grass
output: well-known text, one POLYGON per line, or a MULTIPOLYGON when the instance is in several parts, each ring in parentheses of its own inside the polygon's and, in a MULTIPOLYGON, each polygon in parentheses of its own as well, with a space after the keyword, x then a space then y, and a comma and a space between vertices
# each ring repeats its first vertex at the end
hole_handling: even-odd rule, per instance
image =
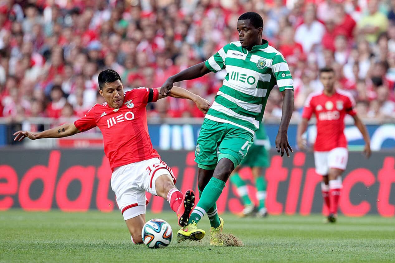
POLYGON ((173 231, 165 220, 151 219, 143 226, 141 237, 149 248, 166 248, 171 242, 173 231))

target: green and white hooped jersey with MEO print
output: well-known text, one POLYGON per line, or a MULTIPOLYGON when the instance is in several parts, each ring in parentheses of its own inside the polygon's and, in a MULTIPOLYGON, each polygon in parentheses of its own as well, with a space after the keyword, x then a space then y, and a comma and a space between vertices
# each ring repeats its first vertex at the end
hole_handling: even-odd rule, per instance
POLYGON ((206 67, 218 72, 226 69, 222 87, 206 118, 229 123, 252 134, 259 128, 267 97, 273 87, 293 90, 293 80, 284 56, 262 39, 251 51, 231 42, 206 60, 206 67))

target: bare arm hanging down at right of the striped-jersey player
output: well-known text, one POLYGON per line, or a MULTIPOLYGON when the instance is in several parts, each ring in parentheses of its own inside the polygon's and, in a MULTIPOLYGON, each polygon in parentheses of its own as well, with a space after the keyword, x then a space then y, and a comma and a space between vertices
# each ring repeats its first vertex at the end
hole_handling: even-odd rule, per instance
POLYGON ((281 157, 284 156, 284 151, 287 156, 290 157, 288 149, 293 152, 290 144, 288 143, 288 126, 290 125, 290 120, 293 113, 293 90, 286 89, 283 92, 284 101, 282 103, 282 115, 280 121, 280 128, 278 128, 278 133, 276 137, 276 148, 277 152, 281 151, 281 157))

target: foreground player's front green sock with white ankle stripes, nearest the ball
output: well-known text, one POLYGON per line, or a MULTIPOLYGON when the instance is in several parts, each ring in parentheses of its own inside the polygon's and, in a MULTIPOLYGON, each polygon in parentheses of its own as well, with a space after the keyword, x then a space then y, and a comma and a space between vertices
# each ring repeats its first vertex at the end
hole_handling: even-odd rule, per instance
POLYGON ((190 220, 192 220, 192 223, 198 223, 204 216, 204 214, 207 213, 207 211, 214 206, 215 202, 220 197, 224 187, 224 181, 214 177, 210 179, 209 183, 201 193, 198 204, 192 211, 192 214, 190 216, 190 220))

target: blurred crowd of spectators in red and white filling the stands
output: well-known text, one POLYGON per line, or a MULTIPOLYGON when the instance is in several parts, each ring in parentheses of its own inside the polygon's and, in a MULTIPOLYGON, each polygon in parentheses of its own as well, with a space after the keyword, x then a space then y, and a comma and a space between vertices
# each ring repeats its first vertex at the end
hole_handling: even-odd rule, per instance
MULTIPOLYGON (((0 117, 83 116, 98 73, 119 72, 124 88, 160 87, 167 77, 237 41, 237 19, 256 11, 263 38, 284 54, 295 114, 321 90, 318 70, 335 69, 362 118, 395 120, 395 0, 36 0, 0 1, 0 117)), ((178 83, 213 101, 225 74, 178 83)), ((281 116, 273 89, 265 117, 281 116)), ((166 98, 148 116, 202 117, 191 101, 166 98)))

